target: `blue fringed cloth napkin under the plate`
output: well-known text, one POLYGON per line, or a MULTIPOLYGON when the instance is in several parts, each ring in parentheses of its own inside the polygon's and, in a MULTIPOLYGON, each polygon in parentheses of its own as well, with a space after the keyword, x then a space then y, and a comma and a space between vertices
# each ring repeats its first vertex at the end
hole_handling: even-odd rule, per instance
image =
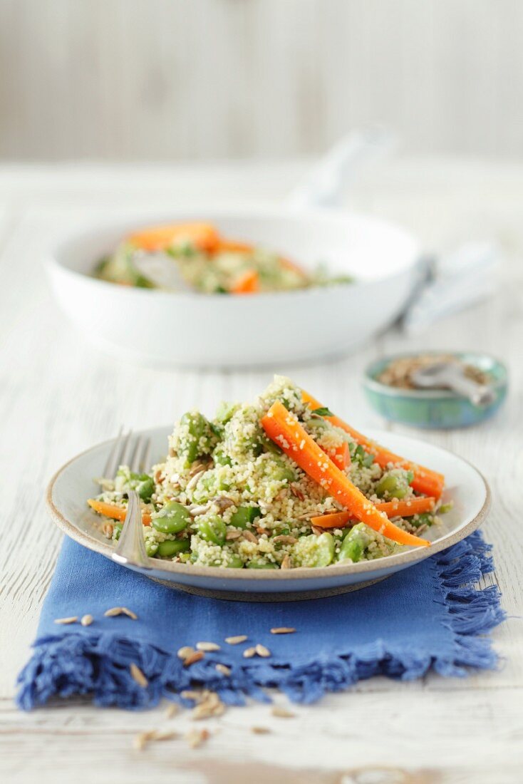
POLYGON ((496 654, 485 633, 503 620, 495 586, 474 583, 492 571, 479 532, 382 583, 315 601, 247 604, 194 597, 169 589, 65 539, 45 599, 31 660, 20 673, 18 704, 29 710, 54 696, 93 696, 99 706, 147 708, 162 697, 205 684, 223 702, 245 695, 267 701, 278 687, 296 702, 313 702, 362 678, 385 674, 412 680, 434 668, 463 676, 467 667, 492 668, 496 654), (124 605, 138 615, 104 617, 124 605), (59 626, 57 618, 93 615, 90 626, 59 626), (296 633, 273 635, 274 626, 296 633), (231 646, 225 637, 246 634, 231 646), (190 667, 176 656, 183 645, 220 644, 190 667), (245 659, 262 643, 269 659, 245 659), (131 663, 145 673, 136 683, 131 663), (231 668, 227 677, 216 663, 231 668))

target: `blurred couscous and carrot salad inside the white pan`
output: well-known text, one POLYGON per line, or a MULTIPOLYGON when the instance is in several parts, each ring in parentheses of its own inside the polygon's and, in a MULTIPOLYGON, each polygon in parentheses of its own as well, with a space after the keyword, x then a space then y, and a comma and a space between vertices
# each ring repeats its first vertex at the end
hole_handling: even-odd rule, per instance
POLYGON ((329 276, 322 267, 308 272, 281 254, 223 238, 210 223, 175 223, 129 234, 100 260, 95 274, 104 281, 143 289, 188 287, 203 294, 236 295, 351 281, 347 275, 329 276), (152 269, 147 261, 158 257, 164 265, 162 284, 147 274, 147 268, 152 269))

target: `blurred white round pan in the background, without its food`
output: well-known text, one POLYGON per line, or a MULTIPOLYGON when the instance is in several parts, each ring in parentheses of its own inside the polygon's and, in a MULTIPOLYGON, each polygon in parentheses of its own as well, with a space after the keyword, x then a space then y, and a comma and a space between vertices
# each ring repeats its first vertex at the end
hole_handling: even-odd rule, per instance
POLYGON ((245 367, 343 354, 389 325, 412 291, 416 241, 405 230, 348 212, 249 209, 176 212, 97 227, 64 240, 48 270, 67 316, 100 348, 155 365, 245 367), (101 256, 140 224, 205 220, 225 236, 323 262, 354 285, 252 296, 118 286, 91 277, 101 256))

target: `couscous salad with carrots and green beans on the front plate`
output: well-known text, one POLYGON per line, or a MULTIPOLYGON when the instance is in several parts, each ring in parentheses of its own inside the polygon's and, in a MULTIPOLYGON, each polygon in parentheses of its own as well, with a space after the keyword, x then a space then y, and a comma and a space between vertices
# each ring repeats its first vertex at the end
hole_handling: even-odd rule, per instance
POLYGON ((127 494, 142 506, 147 554, 198 566, 325 567, 369 561, 421 537, 448 506, 442 474, 409 463, 334 416, 289 379, 213 419, 182 416, 164 461, 120 466, 89 506, 118 539, 127 494))

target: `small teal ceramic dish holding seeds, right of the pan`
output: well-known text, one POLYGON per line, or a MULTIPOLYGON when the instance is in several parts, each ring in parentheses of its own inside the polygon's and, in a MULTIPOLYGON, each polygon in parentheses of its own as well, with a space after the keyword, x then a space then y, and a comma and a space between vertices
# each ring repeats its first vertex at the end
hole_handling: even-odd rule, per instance
POLYGON ((471 351, 452 352, 467 365, 474 365, 492 377, 492 390, 495 399, 492 405, 480 408, 467 397, 460 397, 449 390, 406 390, 389 387, 376 379, 390 362, 398 358, 416 357, 419 354, 449 354, 448 351, 412 352, 394 354, 376 362, 365 371, 365 395, 376 412, 391 422, 427 428, 467 427, 483 422, 493 416, 507 397, 507 368, 488 354, 471 351))

